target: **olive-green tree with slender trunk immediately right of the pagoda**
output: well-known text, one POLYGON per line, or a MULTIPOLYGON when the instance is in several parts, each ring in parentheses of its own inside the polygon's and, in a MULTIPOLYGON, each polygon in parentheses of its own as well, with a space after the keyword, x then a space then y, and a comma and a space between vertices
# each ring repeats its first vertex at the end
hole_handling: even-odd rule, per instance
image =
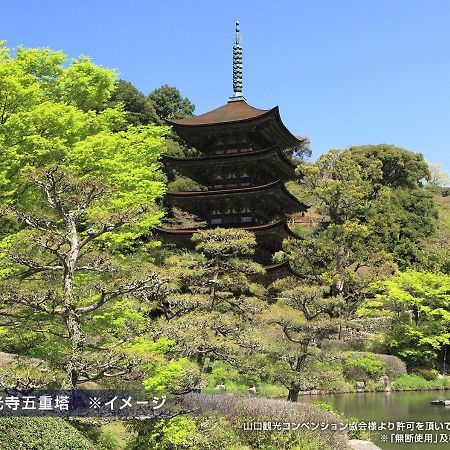
MULTIPOLYGON (((293 267, 313 285, 328 285, 341 298, 338 314, 345 326, 370 282, 392 271, 393 258, 385 250, 372 199, 379 164, 356 164, 349 151, 331 150, 315 164, 300 164, 300 189, 323 215, 323 222, 303 240, 288 240, 285 252, 293 267)), ((276 255, 281 261, 286 254, 276 255)))

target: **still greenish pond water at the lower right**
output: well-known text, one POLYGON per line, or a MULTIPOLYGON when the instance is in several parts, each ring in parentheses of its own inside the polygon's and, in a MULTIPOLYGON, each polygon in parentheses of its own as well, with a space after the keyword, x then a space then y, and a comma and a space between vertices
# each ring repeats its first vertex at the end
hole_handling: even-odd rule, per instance
MULTIPOLYGON (((434 406, 430 402, 438 399, 450 400, 450 391, 425 391, 425 392, 362 392, 352 394, 329 394, 329 395, 311 395, 299 399, 300 402, 315 402, 324 401, 333 406, 337 411, 343 412, 347 417, 356 417, 364 422, 419 422, 424 424, 423 430, 397 431, 386 430, 376 431, 370 433, 370 439, 383 450, 440 450, 450 449, 450 407, 449 406, 434 406), (426 422, 433 422, 439 424, 443 423, 442 430, 428 431, 426 430, 426 422), (446 429, 445 422, 449 424, 449 429, 446 429), (405 435, 418 435, 433 433, 433 443, 427 442, 405 442, 395 443, 395 435, 404 435, 403 438, 408 439, 405 435), (448 438, 447 443, 439 443, 441 434, 446 434, 448 438), (382 442, 383 436, 388 436, 388 442, 382 442), (391 437, 391 435, 394 435, 391 437), (437 436, 436 436, 437 435, 437 436), (438 443, 434 443, 434 439, 438 443)), ((430 426, 428 425, 430 428, 430 426)), ((406 427, 405 427, 406 428, 406 427)), ((416 426, 415 426, 416 428, 416 426)), ((417 437, 413 436, 413 439, 417 437)), ((425 439, 425 438, 424 438, 425 439)))

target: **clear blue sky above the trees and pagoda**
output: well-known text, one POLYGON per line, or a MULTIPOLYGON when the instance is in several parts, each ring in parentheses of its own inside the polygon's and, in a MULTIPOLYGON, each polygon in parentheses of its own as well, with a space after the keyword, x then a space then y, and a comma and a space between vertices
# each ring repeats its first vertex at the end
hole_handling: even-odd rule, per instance
POLYGON ((1 1, 0 39, 115 68, 144 93, 171 84, 196 113, 232 93, 241 23, 244 95, 330 148, 390 143, 450 172, 450 1, 1 1))

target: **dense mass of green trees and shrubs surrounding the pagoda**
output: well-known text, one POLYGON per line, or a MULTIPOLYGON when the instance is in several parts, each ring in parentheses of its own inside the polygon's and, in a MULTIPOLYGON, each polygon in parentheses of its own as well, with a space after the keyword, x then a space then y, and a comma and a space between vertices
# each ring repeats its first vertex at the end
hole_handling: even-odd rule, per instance
POLYGON ((242 425, 337 420, 305 393, 450 388, 442 168, 387 144, 287 152, 310 208, 274 256, 299 276, 268 284, 247 231, 204 229, 194 250, 153 232, 202 225, 164 193, 203 187, 161 162, 196 154, 165 125, 194 108, 86 57, 0 47, 0 387, 173 397, 147 421, 1 418, 0 448, 345 449, 361 436, 242 425))

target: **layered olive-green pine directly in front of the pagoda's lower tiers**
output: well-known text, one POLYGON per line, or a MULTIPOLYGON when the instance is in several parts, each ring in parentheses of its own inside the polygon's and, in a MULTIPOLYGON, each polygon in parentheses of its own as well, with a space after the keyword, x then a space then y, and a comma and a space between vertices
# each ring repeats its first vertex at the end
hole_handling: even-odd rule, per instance
POLYGON ((207 360, 233 366, 256 342, 251 328, 264 307, 264 288, 255 277, 263 273, 253 262, 255 238, 240 229, 195 233, 196 252, 165 258, 171 286, 152 305, 157 336, 174 339, 174 356, 189 357, 204 367, 207 360))

